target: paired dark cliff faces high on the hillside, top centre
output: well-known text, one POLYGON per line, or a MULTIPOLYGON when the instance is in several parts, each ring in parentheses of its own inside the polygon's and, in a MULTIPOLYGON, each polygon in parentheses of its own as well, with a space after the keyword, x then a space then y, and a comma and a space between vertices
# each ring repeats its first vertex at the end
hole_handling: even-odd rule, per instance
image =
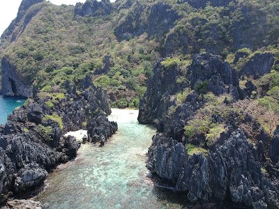
POLYGON ((176 11, 165 3, 156 3, 151 7, 137 3, 134 10, 116 26, 114 32, 118 40, 129 40, 145 32, 150 38, 163 38, 178 19, 176 11), (143 19, 146 14, 148 21, 143 19))

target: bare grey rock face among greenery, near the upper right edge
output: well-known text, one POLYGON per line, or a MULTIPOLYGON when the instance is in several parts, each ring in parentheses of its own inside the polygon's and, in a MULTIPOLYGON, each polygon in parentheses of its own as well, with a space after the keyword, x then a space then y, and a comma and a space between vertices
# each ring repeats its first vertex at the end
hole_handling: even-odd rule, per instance
POLYGON ((239 75, 258 78, 271 71, 274 55, 271 53, 257 53, 241 68, 239 75))

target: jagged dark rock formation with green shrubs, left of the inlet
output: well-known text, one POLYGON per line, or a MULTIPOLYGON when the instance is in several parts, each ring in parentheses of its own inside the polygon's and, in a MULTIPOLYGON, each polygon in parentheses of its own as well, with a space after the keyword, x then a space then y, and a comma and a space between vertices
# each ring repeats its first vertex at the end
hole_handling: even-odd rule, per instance
MULTIPOLYGON (((96 139, 107 140, 114 134, 117 124, 105 116, 110 114, 108 97, 91 80, 86 77, 79 93, 68 82, 67 93, 34 89, 28 103, 9 116, 0 128, 2 196, 8 192, 21 197, 36 194, 47 172, 76 156, 80 144, 75 137, 63 137, 64 133, 79 130, 87 123, 96 139)), ((6 198, 1 203, 4 201, 6 198)))

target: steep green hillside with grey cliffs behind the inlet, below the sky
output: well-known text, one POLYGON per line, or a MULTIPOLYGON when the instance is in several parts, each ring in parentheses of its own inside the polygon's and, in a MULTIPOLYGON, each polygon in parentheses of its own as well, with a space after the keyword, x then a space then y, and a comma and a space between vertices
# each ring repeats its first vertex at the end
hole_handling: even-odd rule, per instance
POLYGON ((29 96, 31 86, 78 83, 91 72, 112 104, 137 107, 162 57, 274 48, 277 12, 275 1, 103 0, 74 7, 24 0, 1 36, 3 94, 29 96))

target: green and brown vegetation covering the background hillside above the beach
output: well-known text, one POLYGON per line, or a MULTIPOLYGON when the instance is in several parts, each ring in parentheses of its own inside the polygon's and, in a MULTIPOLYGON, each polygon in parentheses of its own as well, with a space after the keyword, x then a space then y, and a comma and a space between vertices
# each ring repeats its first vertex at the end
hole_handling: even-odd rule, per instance
MULTIPOLYGON (((0 58, 8 57, 24 84, 33 84, 40 91, 50 93, 56 86, 63 89, 66 80, 80 88, 86 75, 105 67, 103 59, 110 54, 108 72, 96 75, 94 83, 110 95, 121 95, 112 97, 116 98, 112 101, 116 107, 137 107, 153 66, 165 53, 172 57, 167 57, 162 65, 178 66, 183 72, 191 64, 191 54, 199 52, 220 54, 231 65, 236 53, 248 54, 236 63, 237 68, 258 52, 273 52, 278 60, 278 2, 240 0, 229 6, 209 4, 195 9, 189 3, 166 0, 164 3, 179 14, 179 20, 169 31, 156 31, 165 35, 156 36, 149 34, 148 25, 151 8, 159 2, 133 1, 129 7, 126 1, 120 0, 114 3, 118 9, 110 15, 95 17, 74 17, 74 6, 56 6, 49 1, 37 3, 23 14, 21 22, 13 25, 13 31, 9 31, 13 34, 13 44, 10 44, 12 35, 3 36, 0 58), (31 20, 24 25, 29 17, 31 20), (128 40, 116 37, 115 29, 121 24, 127 33, 135 33, 128 40), (248 48, 242 48, 243 45, 248 48)), ((160 28, 164 23, 155 24, 160 28)), ((276 68, 278 65, 273 70, 276 68)), ((176 80, 177 84, 185 82, 185 76, 176 80)), ((197 84, 195 90, 205 94, 206 81, 197 84)), ((50 102, 55 104, 53 100, 50 102)), ((47 107, 51 108, 50 102, 47 107)))

